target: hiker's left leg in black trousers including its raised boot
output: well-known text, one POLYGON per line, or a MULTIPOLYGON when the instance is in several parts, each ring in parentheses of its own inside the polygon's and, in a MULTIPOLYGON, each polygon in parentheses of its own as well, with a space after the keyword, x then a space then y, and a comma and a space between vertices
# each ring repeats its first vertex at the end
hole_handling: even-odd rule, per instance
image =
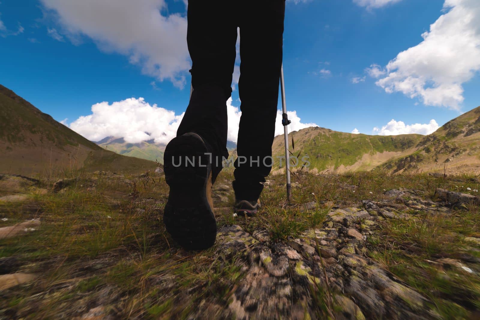
POLYGON ((177 137, 165 148, 170 191, 163 215, 168 233, 186 249, 205 249, 216 239, 211 186, 221 161, 217 166, 214 157, 228 154, 226 101, 237 41, 229 3, 189 0, 187 42, 193 93, 177 137))

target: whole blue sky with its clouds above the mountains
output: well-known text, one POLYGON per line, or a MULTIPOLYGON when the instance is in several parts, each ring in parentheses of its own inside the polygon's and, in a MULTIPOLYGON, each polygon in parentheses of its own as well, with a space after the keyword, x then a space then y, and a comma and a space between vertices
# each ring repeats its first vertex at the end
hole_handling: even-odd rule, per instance
MULTIPOLYGON (((92 140, 165 142, 189 97, 186 7, 136 2, 1 0, 0 84, 92 140)), ((292 129, 429 133, 480 105, 480 2, 288 0, 284 70, 292 129)))

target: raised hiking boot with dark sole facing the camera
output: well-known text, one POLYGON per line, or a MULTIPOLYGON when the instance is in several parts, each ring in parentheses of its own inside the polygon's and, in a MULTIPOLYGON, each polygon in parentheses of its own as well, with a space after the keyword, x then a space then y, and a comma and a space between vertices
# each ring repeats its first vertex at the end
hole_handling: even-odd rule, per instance
POLYGON ((165 149, 165 180, 170 193, 163 221, 172 238, 187 250, 202 250, 215 243, 210 161, 204 140, 195 133, 174 138, 165 149))

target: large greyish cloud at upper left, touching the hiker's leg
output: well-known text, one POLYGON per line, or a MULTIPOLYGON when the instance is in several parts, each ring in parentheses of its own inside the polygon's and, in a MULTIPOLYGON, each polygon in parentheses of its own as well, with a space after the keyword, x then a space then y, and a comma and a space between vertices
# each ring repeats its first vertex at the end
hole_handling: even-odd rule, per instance
POLYGON ((165 0, 41 0, 54 12, 61 33, 74 43, 92 38, 99 49, 118 52, 159 81, 185 85, 190 69, 187 19, 167 12, 165 0))

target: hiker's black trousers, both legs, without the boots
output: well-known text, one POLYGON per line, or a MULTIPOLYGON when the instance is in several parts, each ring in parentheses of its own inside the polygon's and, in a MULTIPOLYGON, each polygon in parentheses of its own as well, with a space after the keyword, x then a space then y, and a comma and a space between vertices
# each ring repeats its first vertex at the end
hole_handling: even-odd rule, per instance
POLYGON ((271 170, 284 17, 285 0, 188 1, 193 93, 177 135, 195 132, 204 138, 213 153, 215 180, 222 157, 228 157, 226 102, 239 27, 241 118, 233 182, 239 200, 256 201, 271 170))

